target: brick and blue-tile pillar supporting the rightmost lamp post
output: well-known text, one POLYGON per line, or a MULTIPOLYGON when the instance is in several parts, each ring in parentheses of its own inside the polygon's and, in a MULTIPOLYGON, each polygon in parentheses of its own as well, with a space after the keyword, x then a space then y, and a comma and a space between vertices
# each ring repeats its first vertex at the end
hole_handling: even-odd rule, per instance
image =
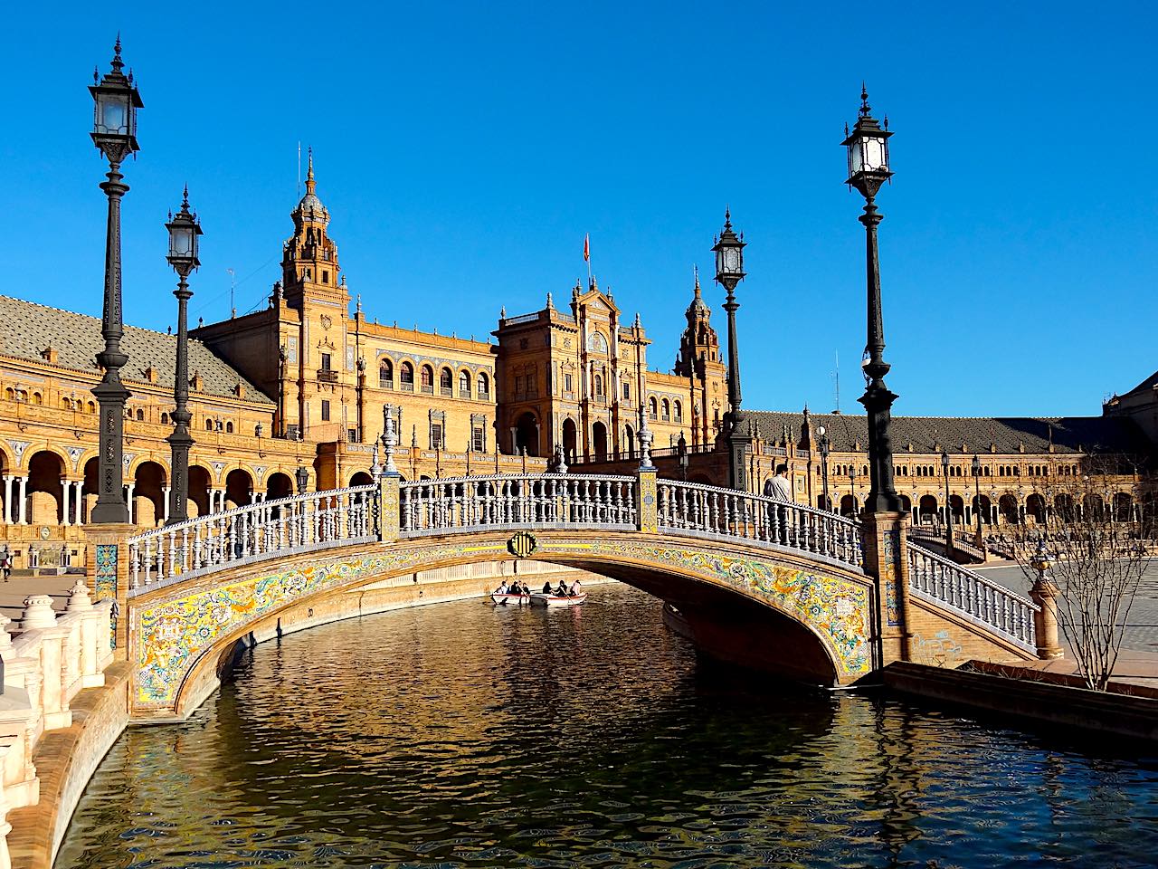
POLYGON ((865 572, 874 583, 879 666, 910 660, 909 553, 904 513, 865 513, 860 525, 865 572))

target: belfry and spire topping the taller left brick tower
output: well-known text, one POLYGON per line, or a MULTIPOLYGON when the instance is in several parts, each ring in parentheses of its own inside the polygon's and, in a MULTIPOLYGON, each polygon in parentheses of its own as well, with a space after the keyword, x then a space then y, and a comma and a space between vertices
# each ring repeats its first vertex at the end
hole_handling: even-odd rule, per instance
POLYGON ((338 283, 338 246, 328 234, 330 212, 315 192, 314 152, 309 152, 306 174, 306 195, 291 213, 293 236, 283 246, 281 284, 286 304, 302 311, 306 294, 323 302, 340 305, 345 311, 350 294, 344 283, 338 283))

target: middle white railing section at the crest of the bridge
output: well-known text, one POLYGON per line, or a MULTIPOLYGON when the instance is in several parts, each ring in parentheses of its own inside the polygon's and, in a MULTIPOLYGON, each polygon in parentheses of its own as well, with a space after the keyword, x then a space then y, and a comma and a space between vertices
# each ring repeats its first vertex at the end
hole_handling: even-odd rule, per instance
POLYGON ((402 483, 404 538, 493 527, 635 528, 636 479, 604 474, 521 474, 402 483))

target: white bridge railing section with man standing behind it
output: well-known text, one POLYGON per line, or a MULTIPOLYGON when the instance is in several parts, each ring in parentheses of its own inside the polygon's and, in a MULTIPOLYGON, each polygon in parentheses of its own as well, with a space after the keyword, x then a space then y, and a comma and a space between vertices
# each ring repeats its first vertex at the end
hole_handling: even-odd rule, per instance
POLYGON ((860 526, 851 519, 699 483, 660 480, 658 489, 664 531, 776 543, 863 569, 860 526))

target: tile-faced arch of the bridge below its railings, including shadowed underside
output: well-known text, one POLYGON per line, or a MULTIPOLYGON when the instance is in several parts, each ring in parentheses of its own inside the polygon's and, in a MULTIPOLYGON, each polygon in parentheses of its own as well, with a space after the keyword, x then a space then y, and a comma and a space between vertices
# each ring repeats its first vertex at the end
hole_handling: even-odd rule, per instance
MULTIPOLYGON (((494 531, 344 547, 130 598, 132 714, 184 718, 217 686, 223 653, 292 607, 416 571, 513 561, 511 535, 494 531)), ((787 676, 827 685, 851 684, 878 665, 873 587, 846 565, 664 534, 542 531, 535 538, 532 560, 647 591, 677 608, 696 641, 734 640, 726 650, 733 659, 763 655, 752 663, 778 664, 787 676)))

